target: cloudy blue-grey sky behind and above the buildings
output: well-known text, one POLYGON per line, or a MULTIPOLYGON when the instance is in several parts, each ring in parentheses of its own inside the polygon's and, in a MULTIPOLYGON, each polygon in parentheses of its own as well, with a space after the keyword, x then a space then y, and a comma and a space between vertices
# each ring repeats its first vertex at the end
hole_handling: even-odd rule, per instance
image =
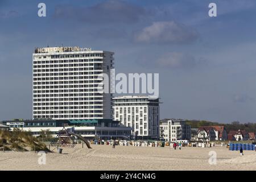
POLYGON ((255 12, 254 0, 0 0, 0 121, 32 118, 32 52, 63 44, 113 51, 116 73, 159 73, 161 119, 256 122, 255 12))

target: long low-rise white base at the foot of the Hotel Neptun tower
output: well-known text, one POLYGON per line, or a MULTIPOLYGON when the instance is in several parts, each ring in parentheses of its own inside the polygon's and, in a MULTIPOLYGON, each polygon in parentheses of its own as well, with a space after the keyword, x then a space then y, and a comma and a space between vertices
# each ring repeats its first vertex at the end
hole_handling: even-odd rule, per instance
POLYGON ((118 121, 112 119, 34 119, 3 121, 3 124, 9 126, 11 130, 19 128, 22 131, 31 131, 35 136, 40 135, 42 130, 48 130, 53 137, 56 137, 63 127, 66 129, 75 127, 75 134, 86 139, 130 139, 133 130, 131 127, 122 126, 118 121))

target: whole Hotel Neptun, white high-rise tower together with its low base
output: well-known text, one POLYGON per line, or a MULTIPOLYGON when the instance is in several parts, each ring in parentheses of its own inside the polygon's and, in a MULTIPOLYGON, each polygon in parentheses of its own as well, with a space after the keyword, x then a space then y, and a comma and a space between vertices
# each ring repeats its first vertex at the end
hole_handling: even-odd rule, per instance
POLYGON ((48 131, 56 137, 65 127, 87 139, 130 139, 133 129, 113 120, 112 94, 103 92, 104 76, 110 77, 114 68, 113 55, 79 47, 36 48, 33 119, 2 123, 34 136, 48 131))

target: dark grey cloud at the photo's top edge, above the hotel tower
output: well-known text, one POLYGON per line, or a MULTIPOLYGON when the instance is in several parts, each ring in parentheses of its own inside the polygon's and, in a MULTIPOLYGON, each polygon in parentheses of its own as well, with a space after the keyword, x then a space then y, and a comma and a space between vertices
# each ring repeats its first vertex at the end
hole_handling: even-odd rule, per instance
POLYGON ((110 0, 91 7, 56 6, 55 18, 79 20, 88 23, 135 23, 146 11, 131 3, 110 0))

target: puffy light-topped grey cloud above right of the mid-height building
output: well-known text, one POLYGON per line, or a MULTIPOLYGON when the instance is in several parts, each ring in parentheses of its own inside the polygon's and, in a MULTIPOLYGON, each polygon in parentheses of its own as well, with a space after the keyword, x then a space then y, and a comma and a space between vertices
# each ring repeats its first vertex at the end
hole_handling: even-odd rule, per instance
POLYGON ((137 32, 134 38, 136 42, 143 43, 191 43, 198 38, 198 34, 192 28, 170 21, 154 22, 137 32))

